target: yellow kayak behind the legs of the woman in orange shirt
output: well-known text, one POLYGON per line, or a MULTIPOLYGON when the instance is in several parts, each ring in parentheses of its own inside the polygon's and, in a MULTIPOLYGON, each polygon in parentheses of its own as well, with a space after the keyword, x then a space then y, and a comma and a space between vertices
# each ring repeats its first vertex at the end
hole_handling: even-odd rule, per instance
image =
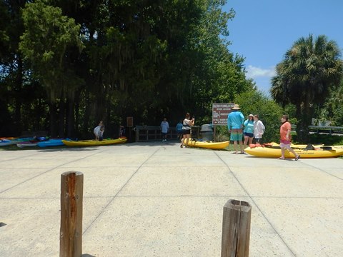
MULTIPOLYGON (((336 148, 334 146, 321 146, 314 150, 293 149, 300 158, 334 158, 343 156, 343 148, 336 148)), ((254 148, 245 148, 246 153, 257 157, 278 158, 281 157, 281 149, 257 146, 254 148)), ((285 158, 295 158, 293 153, 287 149, 284 152, 285 158)))

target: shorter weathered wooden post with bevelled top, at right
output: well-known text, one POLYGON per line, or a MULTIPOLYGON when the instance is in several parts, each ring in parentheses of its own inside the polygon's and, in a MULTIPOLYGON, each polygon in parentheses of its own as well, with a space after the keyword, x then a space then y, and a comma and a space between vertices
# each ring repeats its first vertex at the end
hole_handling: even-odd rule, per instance
POLYGON ((252 206, 230 199, 224 206, 222 257, 248 257, 252 206))

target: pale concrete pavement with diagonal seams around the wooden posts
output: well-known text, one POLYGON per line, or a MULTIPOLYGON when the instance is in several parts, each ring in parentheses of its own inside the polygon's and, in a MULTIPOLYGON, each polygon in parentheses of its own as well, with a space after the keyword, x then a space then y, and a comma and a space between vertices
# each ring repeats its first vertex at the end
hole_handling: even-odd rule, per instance
POLYGON ((2 150, 0 161, 0 256, 59 256, 66 171, 84 173, 83 256, 220 256, 229 199, 252 206, 249 256, 343 253, 342 159, 154 142, 2 150))

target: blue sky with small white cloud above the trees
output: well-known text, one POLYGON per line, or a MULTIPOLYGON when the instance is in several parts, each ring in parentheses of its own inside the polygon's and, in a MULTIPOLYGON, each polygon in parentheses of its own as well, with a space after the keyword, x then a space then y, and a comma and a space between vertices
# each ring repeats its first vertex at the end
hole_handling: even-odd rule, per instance
POLYGON ((326 35, 343 54, 343 0, 227 0, 229 50, 244 56, 247 76, 269 94, 275 66, 301 37, 326 35))

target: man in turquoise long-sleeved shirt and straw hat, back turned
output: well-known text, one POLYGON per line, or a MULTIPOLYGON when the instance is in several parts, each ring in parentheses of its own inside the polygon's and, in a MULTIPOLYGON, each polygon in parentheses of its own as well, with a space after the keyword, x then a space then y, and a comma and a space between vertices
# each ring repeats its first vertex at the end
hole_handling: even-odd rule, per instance
POLYGON ((242 154, 244 154, 243 148, 243 124, 244 124, 244 115, 242 114, 238 104, 235 104, 232 108, 232 112, 227 116, 227 129, 229 129, 230 140, 234 141, 234 153, 237 151, 237 141, 239 141, 239 147, 241 148, 242 154))

